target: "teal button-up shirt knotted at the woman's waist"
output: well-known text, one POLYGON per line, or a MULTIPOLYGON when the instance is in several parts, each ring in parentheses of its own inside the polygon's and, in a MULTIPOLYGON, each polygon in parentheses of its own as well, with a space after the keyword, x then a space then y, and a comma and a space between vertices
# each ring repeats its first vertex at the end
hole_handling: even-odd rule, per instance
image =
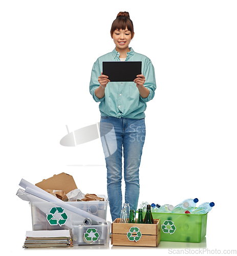
POLYGON ((156 90, 155 71, 152 61, 145 55, 134 52, 132 48, 130 48, 130 52, 127 52, 125 61, 142 61, 142 74, 145 76, 144 87, 149 90, 147 98, 140 96, 135 82, 109 82, 103 98, 99 99, 95 95, 96 88, 100 86, 98 77, 102 72, 102 61, 120 61, 119 55, 119 52, 114 49, 113 52, 96 60, 91 73, 90 93, 96 102, 100 102, 101 116, 144 118, 146 102, 153 99, 156 90))

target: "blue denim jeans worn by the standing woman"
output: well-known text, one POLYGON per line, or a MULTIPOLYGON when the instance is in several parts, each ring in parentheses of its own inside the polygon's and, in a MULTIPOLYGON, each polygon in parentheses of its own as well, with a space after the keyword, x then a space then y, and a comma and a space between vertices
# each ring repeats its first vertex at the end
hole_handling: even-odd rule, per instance
POLYGON ((140 189, 139 166, 145 141, 145 120, 144 118, 101 116, 100 135, 107 168, 107 194, 112 221, 114 221, 120 218, 122 209, 122 155, 125 203, 129 203, 131 209, 137 210, 140 189))

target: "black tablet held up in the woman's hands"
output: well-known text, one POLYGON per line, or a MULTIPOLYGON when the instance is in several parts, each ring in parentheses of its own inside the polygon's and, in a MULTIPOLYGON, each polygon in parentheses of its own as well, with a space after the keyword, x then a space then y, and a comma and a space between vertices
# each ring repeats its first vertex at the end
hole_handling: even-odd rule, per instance
POLYGON ((141 61, 103 61, 103 75, 111 82, 133 82, 142 73, 141 61))

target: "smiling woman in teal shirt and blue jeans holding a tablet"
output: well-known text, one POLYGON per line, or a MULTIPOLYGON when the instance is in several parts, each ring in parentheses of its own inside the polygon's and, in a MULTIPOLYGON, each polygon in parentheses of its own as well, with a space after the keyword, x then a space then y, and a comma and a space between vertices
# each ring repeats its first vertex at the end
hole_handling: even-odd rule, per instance
POLYGON ((152 61, 134 52, 129 44, 134 37, 133 22, 128 12, 120 12, 111 27, 115 49, 100 56, 91 73, 90 93, 100 102, 100 133, 103 127, 112 124, 115 137, 101 139, 107 168, 107 193, 112 220, 120 217, 122 208, 122 156, 124 158, 125 203, 137 210, 139 198, 139 166, 145 140, 146 102, 152 100, 156 90, 155 72, 152 61), (134 81, 111 82, 103 75, 103 61, 141 61, 141 74, 134 81), (102 125, 103 124, 103 125, 102 125), (106 154, 109 145, 116 150, 106 154))

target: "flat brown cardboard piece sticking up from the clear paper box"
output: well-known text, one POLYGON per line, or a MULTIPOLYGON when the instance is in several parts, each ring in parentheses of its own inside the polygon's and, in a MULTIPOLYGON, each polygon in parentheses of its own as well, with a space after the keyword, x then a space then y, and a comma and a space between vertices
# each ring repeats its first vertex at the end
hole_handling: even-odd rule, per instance
POLYGON ((73 177, 66 173, 54 175, 53 177, 47 180, 42 180, 41 182, 38 182, 35 185, 44 190, 45 189, 62 190, 66 194, 68 194, 70 191, 77 188, 73 177))

